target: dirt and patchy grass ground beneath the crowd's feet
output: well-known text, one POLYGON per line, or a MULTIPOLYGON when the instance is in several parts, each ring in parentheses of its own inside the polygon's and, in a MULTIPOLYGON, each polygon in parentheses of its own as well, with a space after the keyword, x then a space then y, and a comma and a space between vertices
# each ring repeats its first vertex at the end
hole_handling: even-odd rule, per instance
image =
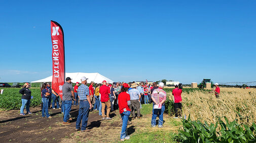
MULTIPOLYGON (((42 117, 41 107, 30 108, 32 114, 25 116, 20 116, 19 110, 0 111, 0 140, 1 142, 118 142, 120 140, 122 123, 118 110, 111 112, 112 120, 101 120, 98 111, 90 112, 87 127, 91 131, 81 132, 75 131, 78 109, 78 106, 71 108, 70 115, 73 118, 71 125, 62 125, 63 114, 60 109, 49 109, 52 119, 42 117)), ((127 126, 128 135, 135 137, 135 140, 130 139, 131 142, 141 142, 147 139, 149 133, 157 136, 155 132, 159 132, 159 135, 162 131, 175 132, 180 126, 179 121, 164 114, 164 128, 151 128, 152 105, 142 105, 141 113, 142 119, 136 118, 127 126), (143 133, 144 136, 140 137, 139 135, 143 133)), ((148 141, 154 142, 154 138, 148 141)))

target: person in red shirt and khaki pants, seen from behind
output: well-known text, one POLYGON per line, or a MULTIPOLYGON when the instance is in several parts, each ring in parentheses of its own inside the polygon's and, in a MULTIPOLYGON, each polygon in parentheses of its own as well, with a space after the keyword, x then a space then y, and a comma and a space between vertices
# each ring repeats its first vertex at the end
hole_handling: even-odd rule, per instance
POLYGON ((106 86, 106 81, 102 82, 103 85, 99 88, 99 93, 100 93, 100 101, 101 101, 101 112, 102 112, 102 120, 111 120, 112 118, 109 117, 109 113, 111 110, 111 103, 109 100, 109 94, 110 94, 110 90, 109 88, 106 86), (106 115, 105 115, 105 106, 107 107, 106 109, 106 115))

